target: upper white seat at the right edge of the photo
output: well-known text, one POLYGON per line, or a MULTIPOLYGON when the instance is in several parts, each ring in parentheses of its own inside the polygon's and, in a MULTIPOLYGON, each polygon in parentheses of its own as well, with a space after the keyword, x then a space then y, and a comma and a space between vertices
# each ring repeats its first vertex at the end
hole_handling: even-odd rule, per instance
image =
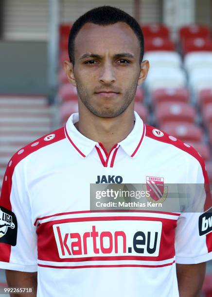
POLYGON ((212 52, 208 51, 195 51, 185 55, 184 66, 191 74, 191 71, 201 68, 212 68, 212 52))

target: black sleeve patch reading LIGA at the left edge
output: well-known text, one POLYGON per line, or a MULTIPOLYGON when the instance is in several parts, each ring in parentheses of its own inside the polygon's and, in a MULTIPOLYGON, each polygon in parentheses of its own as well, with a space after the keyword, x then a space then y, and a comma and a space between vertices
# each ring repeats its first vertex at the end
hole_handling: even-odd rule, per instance
POLYGON ((0 243, 16 246, 17 242, 16 215, 4 207, 0 207, 0 243))

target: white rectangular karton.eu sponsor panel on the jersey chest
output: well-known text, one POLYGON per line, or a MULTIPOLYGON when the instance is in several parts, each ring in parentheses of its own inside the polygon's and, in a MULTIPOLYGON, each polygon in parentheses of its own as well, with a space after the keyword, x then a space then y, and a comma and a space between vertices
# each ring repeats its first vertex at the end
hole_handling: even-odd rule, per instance
POLYGON ((63 258, 159 255, 160 221, 85 221, 53 225, 58 254, 63 258))

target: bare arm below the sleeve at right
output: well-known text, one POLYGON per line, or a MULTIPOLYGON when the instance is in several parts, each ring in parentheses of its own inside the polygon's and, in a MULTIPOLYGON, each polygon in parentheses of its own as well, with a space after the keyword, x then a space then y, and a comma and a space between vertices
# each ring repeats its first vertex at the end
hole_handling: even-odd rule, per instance
POLYGON ((206 263, 177 264, 176 267, 179 296, 200 297, 206 263))

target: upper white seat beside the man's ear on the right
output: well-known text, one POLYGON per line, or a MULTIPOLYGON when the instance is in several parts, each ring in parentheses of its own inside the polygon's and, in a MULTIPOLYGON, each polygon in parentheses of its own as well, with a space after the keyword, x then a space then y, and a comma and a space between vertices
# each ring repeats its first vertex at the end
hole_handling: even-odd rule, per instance
POLYGON ((176 51, 147 51, 143 57, 148 60, 150 67, 181 67, 181 57, 176 51))

